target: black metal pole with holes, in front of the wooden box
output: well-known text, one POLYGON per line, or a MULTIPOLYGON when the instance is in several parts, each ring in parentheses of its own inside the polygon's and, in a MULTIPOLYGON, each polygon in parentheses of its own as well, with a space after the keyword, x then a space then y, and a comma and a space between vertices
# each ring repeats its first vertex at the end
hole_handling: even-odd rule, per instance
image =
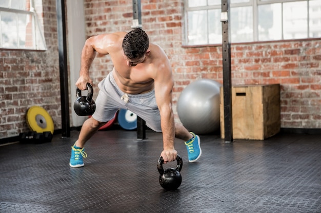
POLYGON ((222 0, 222 56, 223 56, 223 97, 224 97, 224 135, 225 142, 233 141, 232 128, 232 80, 231 80, 231 42, 230 42, 230 1, 222 0))

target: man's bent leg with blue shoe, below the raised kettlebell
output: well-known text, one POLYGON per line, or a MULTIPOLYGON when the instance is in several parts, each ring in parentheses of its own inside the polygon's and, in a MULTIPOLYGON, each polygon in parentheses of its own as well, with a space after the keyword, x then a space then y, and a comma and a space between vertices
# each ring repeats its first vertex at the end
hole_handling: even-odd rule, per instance
POLYGON ((84 151, 85 143, 104 124, 106 123, 98 122, 95 119, 93 119, 93 117, 90 117, 84 122, 81 132, 79 133, 78 139, 76 140, 76 143, 71 147, 71 157, 69 162, 70 167, 77 168, 84 166, 83 158, 87 157, 87 154, 84 151))

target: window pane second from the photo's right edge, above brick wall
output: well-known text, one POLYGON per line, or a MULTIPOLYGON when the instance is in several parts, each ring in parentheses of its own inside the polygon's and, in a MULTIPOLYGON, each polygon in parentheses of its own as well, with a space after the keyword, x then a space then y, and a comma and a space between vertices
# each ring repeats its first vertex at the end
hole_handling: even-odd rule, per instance
POLYGON ((283 3, 284 39, 308 37, 307 2, 283 3))

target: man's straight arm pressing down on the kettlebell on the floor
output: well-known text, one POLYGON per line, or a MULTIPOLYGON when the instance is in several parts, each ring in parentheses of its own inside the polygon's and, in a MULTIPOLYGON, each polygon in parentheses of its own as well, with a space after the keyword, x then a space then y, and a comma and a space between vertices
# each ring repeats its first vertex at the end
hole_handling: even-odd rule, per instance
MULTIPOLYGON (((164 53, 165 54, 165 53, 164 53)), ((177 151, 174 147, 175 123, 172 109, 173 78, 172 69, 166 56, 158 66, 154 79, 156 103, 160 113, 160 125, 163 132, 164 150, 161 154, 165 162, 176 159, 177 151)))

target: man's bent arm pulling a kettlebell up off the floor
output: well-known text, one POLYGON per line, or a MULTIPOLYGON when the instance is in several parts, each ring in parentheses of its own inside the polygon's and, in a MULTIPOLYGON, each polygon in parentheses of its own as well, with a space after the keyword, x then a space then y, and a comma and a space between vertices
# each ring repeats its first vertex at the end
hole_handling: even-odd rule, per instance
POLYGON ((92 80, 89 76, 89 68, 92 64, 96 52, 99 54, 109 54, 109 49, 115 43, 115 39, 118 38, 118 34, 102 34, 92 36, 85 42, 81 56, 81 70, 79 72, 79 78, 76 82, 76 86, 81 89, 87 89, 87 83, 92 84, 92 80))

